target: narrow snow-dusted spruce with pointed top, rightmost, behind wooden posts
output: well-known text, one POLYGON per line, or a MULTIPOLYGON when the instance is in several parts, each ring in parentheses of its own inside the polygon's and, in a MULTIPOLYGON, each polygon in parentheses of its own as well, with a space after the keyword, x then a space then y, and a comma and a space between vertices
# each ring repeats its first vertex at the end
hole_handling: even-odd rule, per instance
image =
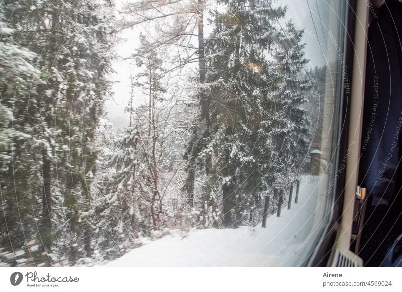
POLYGON ((308 60, 300 43, 302 35, 303 31, 288 22, 274 53, 277 86, 270 107, 274 117, 271 181, 276 188, 292 183, 303 173, 309 154, 310 124, 306 106, 312 83, 305 73, 308 60))

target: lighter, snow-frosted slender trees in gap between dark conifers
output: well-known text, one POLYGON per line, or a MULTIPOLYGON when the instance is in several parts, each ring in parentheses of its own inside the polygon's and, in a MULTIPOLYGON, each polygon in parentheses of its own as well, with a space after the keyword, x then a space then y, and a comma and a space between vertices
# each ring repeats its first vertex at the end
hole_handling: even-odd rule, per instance
MULTIPOLYGON (((164 199, 174 200, 169 190, 181 177, 177 162, 182 145, 177 139, 182 138, 183 115, 177 105, 179 91, 166 90, 170 85, 165 80, 169 78, 162 66, 163 53, 140 36, 132 56, 140 72, 131 76, 130 89, 133 93, 136 87, 139 92, 131 95, 126 109, 130 125, 108 143, 112 151, 107 151, 103 170, 95 178, 97 199, 90 217, 99 253, 106 256, 135 246, 142 237, 158 237, 179 215, 174 214, 177 209, 172 211, 179 202, 164 208, 164 199), (135 97, 143 103, 133 107, 135 97)), ((180 193, 177 187, 176 193, 180 193)))

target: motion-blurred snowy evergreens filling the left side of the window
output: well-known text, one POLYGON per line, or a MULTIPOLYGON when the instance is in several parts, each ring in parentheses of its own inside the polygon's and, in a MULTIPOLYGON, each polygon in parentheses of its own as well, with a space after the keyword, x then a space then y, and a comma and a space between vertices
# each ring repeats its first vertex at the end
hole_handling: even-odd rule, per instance
POLYGON ((96 170, 95 128, 110 92, 111 8, 85 0, 2 2, 8 60, 1 104, 9 119, 2 132, 10 134, 1 181, 3 211, 12 213, 0 241, 8 251, 37 251, 26 255, 33 264, 51 265, 56 251, 71 262, 91 251, 83 218, 96 170))

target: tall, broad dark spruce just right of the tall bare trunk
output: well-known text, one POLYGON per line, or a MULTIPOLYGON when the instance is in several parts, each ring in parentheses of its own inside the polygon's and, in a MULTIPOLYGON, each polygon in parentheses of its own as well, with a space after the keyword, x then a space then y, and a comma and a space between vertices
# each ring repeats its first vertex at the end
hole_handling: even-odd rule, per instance
POLYGON ((206 45, 214 170, 202 204, 208 213, 211 199, 216 204, 222 192, 223 226, 236 227, 249 198, 266 189, 260 174, 270 155, 266 108, 272 69, 267 54, 278 35, 275 20, 285 9, 272 8, 270 1, 222 3, 226 10, 215 11, 206 45))

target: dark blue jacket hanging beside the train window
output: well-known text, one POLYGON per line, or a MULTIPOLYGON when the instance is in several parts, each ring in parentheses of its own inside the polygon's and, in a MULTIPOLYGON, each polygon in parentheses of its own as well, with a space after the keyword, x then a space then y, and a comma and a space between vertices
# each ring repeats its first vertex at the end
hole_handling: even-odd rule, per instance
POLYGON ((402 175, 401 3, 372 14, 368 40, 359 179, 373 205, 387 205, 402 175))

